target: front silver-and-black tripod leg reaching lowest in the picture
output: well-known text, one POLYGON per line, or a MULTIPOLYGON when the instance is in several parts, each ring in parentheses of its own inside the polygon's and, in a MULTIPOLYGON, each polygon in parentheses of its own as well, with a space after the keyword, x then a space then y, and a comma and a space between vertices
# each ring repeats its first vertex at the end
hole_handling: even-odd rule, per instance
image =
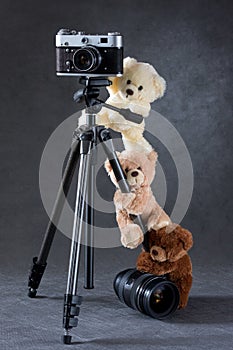
POLYGON ((84 218, 85 198, 87 191, 88 172, 90 168, 90 151, 93 140, 93 132, 88 131, 80 135, 80 164, 76 191, 76 203, 73 222, 72 242, 70 249, 69 270, 66 294, 64 296, 63 312, 63 342, 70 344, 69 331, 78 324, 79 305, 81 299, 77 295, 78 273, 81 253, 82 224, 84 218))

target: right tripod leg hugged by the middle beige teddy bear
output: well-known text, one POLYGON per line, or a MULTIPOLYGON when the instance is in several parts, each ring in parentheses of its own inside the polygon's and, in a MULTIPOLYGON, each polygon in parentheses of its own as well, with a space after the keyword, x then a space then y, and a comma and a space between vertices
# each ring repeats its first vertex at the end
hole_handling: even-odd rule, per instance
MULTIPOLYGON (((102 142, 103 149, 104 149, 104 151, 108 157, 108 160, 111 164, 113 173, 114 173, 115 178, 118 182, 118 185, 119 185, 121 192, 130 193, 130 187, 129 187, 129 184, 126 180, 125 174, 122 170, 119 159, 117 157, 117 154, 116 154, 113 142, 112 142, 112 137, 111 137, 110 131, 108 129, 100 126, 99 127, 99 138, 100 138, 100 141, 102 142)), ((144 226, 140 215, 135 216, 133 221, 135 222, 135 224, 140 226, 142 232, 144 233, 143 248, 145 249, 145 251, 149 251, 147 229, 144 226)))

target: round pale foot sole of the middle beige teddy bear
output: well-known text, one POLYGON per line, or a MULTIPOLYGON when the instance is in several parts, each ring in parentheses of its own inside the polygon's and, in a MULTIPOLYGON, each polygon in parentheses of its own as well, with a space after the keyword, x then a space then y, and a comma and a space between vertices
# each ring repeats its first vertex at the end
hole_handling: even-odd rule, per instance
POLYGON ((137 248, 143 239, 143 232, 136 224, 129 224, 121 229, 121 243, 126 248, 137 248))

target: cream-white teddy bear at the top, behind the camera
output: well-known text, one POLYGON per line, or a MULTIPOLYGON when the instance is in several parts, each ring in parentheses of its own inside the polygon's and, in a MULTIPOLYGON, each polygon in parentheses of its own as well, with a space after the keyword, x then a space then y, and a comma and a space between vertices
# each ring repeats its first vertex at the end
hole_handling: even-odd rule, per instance
MULTIPOLYGON (((148 63, 136 59, 124 59, 122 77, 109 78, 112 85, 107 89, 109 98, 106 103, 146 118, 151 110, 151 103, 162 97, 166 82, 148 63)), ((120 113, 103 107, 97 114, 97 124, 105 125, 122 134, 126 150, 150 153, 151 145, 144 139, 144 119, 140 124, 126 120, 120 113)))

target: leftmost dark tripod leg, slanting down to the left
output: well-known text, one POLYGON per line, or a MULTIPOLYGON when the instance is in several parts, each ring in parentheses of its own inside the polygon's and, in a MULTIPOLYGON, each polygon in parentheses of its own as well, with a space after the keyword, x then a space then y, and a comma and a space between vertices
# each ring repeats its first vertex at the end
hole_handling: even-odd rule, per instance
POLYGON ((78 162, 79 148, 79 141, 75 140, 71 145, 69 159, 65 168, 65 172, 63 174, 62 182, 59 186, 53 211, 44 235, 43 243, 41 245, 40 253, 38 257, 33 258, 33 265, 30 270, 28 281, 28 296, 31 298, 36 296, 37 289, 47 265, 47 258, 56 233, 56 226, 58 224, 66 200, 66 195, 69 191, 73 174, 78 162))

